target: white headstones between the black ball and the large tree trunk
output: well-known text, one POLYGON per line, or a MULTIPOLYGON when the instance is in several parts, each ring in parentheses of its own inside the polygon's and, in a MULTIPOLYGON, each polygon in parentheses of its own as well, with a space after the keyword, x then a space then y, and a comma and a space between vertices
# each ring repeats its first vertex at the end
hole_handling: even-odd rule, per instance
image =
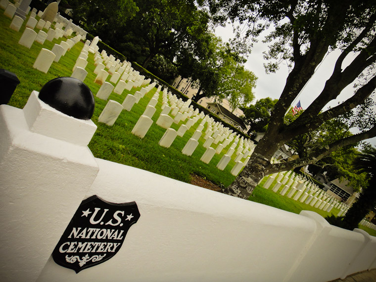
MULTIPOLYGON (((95 38, 93 42, 97 42, 95 41, 95 38)), ((72 77, 82 81, 85 80, 87 76, 85 68, 88 64, 88 51, 92 48, 93 42, 90 43, 87 41, 85 43, 76 60, 72 77)), ((94 82, 101 85, 96 96, 103 100, 108 99, 112 92, 121 95, 124 90, 130 91, 133 87, 137 88, 142 86, 142 88, 139 91, 136 91, 134 95, 128 94, 122 104, 114 100, 108 101, 102 113, 99 115, 98 121, 109 126, 112 126, 115 123, 123 110, 131 111, 134 104, 138 103, 140 99, 156 85, 156 83, 150 84, 150 79, 145 80, 144 76, 140 75, 138 71, 135 71, 131 67, 130 62, 126 60, 120 62, 120 60, 116 60, 113 55, 108 56, 105 50, 102 50, 100 53, 97 49, 94 50, 94 66, 94 74, 97 75, 94 82), (106 82, 109 75, 111 75, 109 81, 116 84, 116 86, 106 82)), ((202 155, 201 161, 209 163, 216 153, 220 154, 227 145, 233 142, 226 154, 217 164, 217 167, 220 170, 225 169, 235 152, 236 145, 238 145, 235 156, 235 166, 232 169, 232 174, 237 175, 249 160, 249 156, 254 148, 253 142, 244 139, 243 137, 236 136, 236 133, 224 127, 222 123, 215 122, 213 118, 205 115, 203 112, 199 113, 198 109, 194 110, 193 106, 190 105, 190 99, 184 102, 181 98, 178 99, 176 95, 168 92, 167 89, 161 91, 162 87, 159 86, 146 105, 146 108, 133 128, 132 133, 140 138, 143 138, 146 135, 153 123, 152 117, 156 112, 155 107, 158 104, 160 94, 162 94, 162 111, 156 124, 165 128, 166 132, 159 141, 159 145, 170 147, 178 136, 183 137, 190 127, 201 119, 201 123, 197 126, 197 129, 188 140, 182 153, 190 156, 197 148, 199 138, 202 137, 205 139, 203 146, 206 148, 206 151, 202 155), (187 119, 188 121, 184 124, 187 119), (180 122, 182 122, 182 124, 177 131, 171 128, 173 123, 179 124, 180 122), (203 135, 202 130, 204 129, 206 122, 208 123, 208 126, 203 135), (218 144, 219 142, 221 143, 218 144), (213 143, 218 144, 216 149, 211 147, 213 143), (244 161, 241 161, 241 159, 244 159, 244 161)))

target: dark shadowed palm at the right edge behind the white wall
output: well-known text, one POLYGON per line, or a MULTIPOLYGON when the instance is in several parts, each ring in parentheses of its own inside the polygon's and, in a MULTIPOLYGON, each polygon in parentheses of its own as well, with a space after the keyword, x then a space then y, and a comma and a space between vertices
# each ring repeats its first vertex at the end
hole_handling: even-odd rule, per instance
POLYGON ((359 173, 367 172, 368 188, 363 188, 360 197, 348 210, 341 227, 349 230, 358 228, 359 222, 376 206, 376 148, 369 147, 360 154, 354 163, 359 173))

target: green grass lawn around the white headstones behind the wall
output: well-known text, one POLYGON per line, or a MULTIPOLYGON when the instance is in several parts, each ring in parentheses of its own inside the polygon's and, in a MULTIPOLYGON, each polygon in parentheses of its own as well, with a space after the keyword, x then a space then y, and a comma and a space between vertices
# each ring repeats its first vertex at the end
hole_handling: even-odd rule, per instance
MULTIPOLYGON (((77 43, 70 51, 67 51, 65 56, 61 57, 58 63, 52 63, 47 74, 42 73, 32 67, 40 50, 42 48, 51 50, 54 44, 59 44, 61 40, 66 41, 67 39, 54 39, 52 42, 46 41, 43 46, 34 43, 33 46, 28 49, 18 44, 25 29, 26 21, 20 31, 16 32, 8 28, 11 20, 3 15, 2 9, 0 9, 0 14, 0 68, 15 73, 20 80, 20 84, 16 88, 8 104, 14 107, 23 108, 33 90, 40 91, 43 85, 49 80, 56 77, 69 77, 72 74, 73 65, 78 58, 84 43, 77 43)), ((38 30, 36 30, 36 32, 38 32, 38 30)), ((92 53, 89 53, 86 70, 88 71, 88 76, 84 82, 92 90, 95 97, 95 110, 92 120, 98 128, 92 141, 89 143, 89 148, 92 150, 95 157, 137 167, 187 183, 190 182, 191 174, 200 175, 220 186, 228 186, 234 181, 235 176, 233 176, 230 171, 235 165, 235 154, 224 171, 220 171, 216 168, 217 163, 222 155, 230 148, 231 144, 222 151, 222 154, 216 154, 209 164, 200 161, 200 157, 205 152, 205 148, 202 146, 205 141, 203 135, 199 139, 199 145, 193 152, 192 156, 186 156, 181 153, 184 145, 199 125, 200 120, 186 132, 183 138, 178 136, 170 148, 158 145, 159 140, 166 131, 155 124, 161 112, 161 94, 156 106, 156 113, 152 118, 154 123, 146 136, 143 139, 140 139, 131 133, 131 130, 144 111, 148 101, 156 92, 156 88, 152 89, 148 94, 141 98, 140 102, 134 105, 132 111, 128 112, 123 110, 113 126, 99 123, 98 116, 102 112, 107 101, 101 100, 95 96, 100 86, 94 83, 96 75, 93 73, 94 55, 92 53)), ((110 76, 107 79, 108 82, 109 79, 110 76)), ((121 95, 112 93, 109 96, 109 99, 122 103, 128 94, 134 94, 138 90, 140 90, 140 88, 133 88, 131 91, 125 90, 121 95)), ((185 122, 181 121, 179 124, 173 124, 172 128, 178 130, 180 125, 185 124, 186 122, 187 120, 185 122)), ((206 126, 207 124, 205 124, 204 130, 206 130, 206 126)), ((213 144, 212 147, 216 148, 217 145, 213 144)), ((242 161, 243 160, 244 159, 242 159, 242 161)), ((251 201, 270 205, 293 213, 299 213, 302 210, 312 210, 324 217, 330 214, 336 215, 338 213, 337 209, 332 209, 331 213, 324 212, 311 207, 310 205, 294 201, 287 196, 281 196, 279 193, 274 193, 271 191, 271 188, 269 190, 264 189, 261 186, 265 181, 266 180, 264 179, 263 182, 256 187, 254 193, 250 197, 251 201)), ((371 232, 375 231, 370 230, 369 233, 371 232)))

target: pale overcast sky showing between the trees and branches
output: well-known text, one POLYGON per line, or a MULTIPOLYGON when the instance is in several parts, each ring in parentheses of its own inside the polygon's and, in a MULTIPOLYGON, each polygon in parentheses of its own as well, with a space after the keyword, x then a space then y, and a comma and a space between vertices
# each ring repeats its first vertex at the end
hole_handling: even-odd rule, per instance
MULTIPOLYGON (((228 41, 234 36, 232 25, 227 27, 218 27, 215 30, 217 36, 221 37, 223 41, 228 41)), ((278 99, 282 93, 283 87, 286 83, 286 78, 288 76, 288 67, 286 64, 282 64, 280 69, 276 73, 265 73, 264 63, 266 62, 263 58, 263 52, 268 48, 267 44, 262 43, 260 39, 257 43, 253 44, 252 52, 248 56, 248 60, 245 63, 245 67, 252 71, 257 77, 256 89, 255 89, 255 100, 261 98, 271 97, 278 99)), ((323 62, 316 69, 315 74, 308 82, 303 91, 299 94, 298 99, 294 102, 294 106, 297 101, 300 100, 303 109, 306 109, 314 99, 321 93, 324 89, 325 82, 329 79, 331 73, 333 72, 334 64, 339 56, 339 51, 332 51, 323 60, 323 62)), ((351 61, 351 56, 349 55, 345 60, 342 68, 346 66, 346 62, 351 61)), ((337 99, 330 101, 324 108, 327 109, 329 106, 333 107, 338 104, 338 102, 344 101, 353 94, 353 86, 347 86, 337 99)), ((354 132, 355 133, 355 132, 354 132)), ((376 146, 376 138, 367 140, 376 146)))

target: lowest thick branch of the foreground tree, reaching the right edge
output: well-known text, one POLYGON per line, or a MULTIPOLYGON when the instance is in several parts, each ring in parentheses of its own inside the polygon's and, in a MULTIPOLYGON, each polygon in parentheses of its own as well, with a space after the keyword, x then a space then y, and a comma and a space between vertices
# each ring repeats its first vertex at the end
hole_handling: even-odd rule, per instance
POLYGON ((325 156, 329 155, 331 152, 334 152, 335 150, 342 148, 347 145, 351 145, 366 139, 370 139, 376 136, 376 126, 371 128, 370 130, 366 132, 362 132, 338 141, 334 141, 331 144, 325 146, 324 148, 318 149, 315 152, 312 152, 310 156, 305 158, 299 158, 293 161, 289 161, 287 163, 276 163, 271 164, 268 167, 268 174, 280 172, 280 171, 286 171, 291 170, 296 167, 301 167, 309 164, 314 164, 317 161, 321 160, 325 156))

